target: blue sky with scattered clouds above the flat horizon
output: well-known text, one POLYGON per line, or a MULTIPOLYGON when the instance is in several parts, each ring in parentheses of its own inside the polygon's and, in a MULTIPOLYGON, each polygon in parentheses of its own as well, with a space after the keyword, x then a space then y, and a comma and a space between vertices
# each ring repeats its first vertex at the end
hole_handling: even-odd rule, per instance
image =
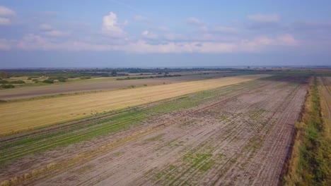
POLYGON ((330 66, 331 1, 0 0, 0 68, 330 66))

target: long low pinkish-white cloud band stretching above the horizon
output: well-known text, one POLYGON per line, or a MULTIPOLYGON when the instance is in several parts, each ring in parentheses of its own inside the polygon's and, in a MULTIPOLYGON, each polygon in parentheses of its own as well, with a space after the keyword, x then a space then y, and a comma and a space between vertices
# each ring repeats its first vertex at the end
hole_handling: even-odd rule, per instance
MULTIPOLYGON (((127 44, 93 44, 88 42, 51 42, 37 35, 27 35, 17 44, 24 50, 65 50, 65 51, 124 51, 128 53, 206 53, 222 54, 233 52, 258 52, 267 46, 284 45, 284 41, 268 37, 243 39, 239 42, 166 42, 149 44, 144 40, 127 44)), ((8 47, 8 46, 6 46, 8 47)))

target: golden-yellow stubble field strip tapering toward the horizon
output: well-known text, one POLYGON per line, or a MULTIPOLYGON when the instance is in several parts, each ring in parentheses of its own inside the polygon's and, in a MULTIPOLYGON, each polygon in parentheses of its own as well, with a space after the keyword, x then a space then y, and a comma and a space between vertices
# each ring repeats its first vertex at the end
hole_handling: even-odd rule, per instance
POLYGON ((240 75, 170 85, 120 89, 0 104, 0 135, 33 130, 69 120, 100 115, 106 111, 178 97, 216 87, 255 80, 269 75, 240 75))

